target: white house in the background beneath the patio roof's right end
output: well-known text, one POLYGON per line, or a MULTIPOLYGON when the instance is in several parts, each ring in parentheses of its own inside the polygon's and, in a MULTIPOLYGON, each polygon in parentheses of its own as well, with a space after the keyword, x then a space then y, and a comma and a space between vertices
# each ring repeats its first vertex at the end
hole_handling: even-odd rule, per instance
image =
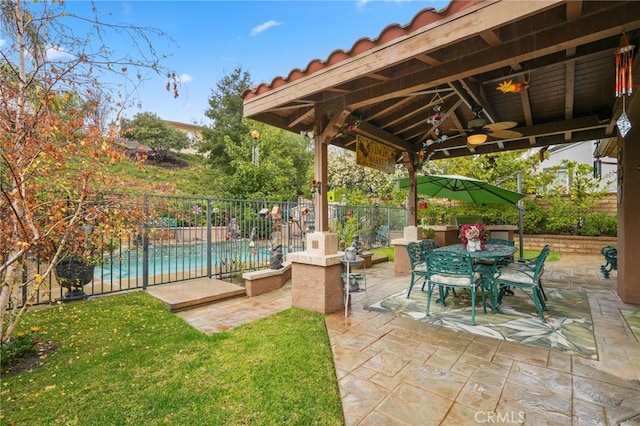
POLYGON ((554 145, 547 150, 547 158, 540 163, 542 170, 558 168, 556 170, 556 184, 565 188, 571 187, 571 179, 567 169, 562 166, 563 160, 575 161, 580 164, 593 166, 602 176, 602 189, 609 193, 616 192, 615 160, 597 157, 599 140, 571 143, 566 145, 554 145))

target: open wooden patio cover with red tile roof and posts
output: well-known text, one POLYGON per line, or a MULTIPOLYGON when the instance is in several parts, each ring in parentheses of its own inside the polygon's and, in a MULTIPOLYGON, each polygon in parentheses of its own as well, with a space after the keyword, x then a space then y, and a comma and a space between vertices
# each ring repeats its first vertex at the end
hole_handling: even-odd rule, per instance
MULTIPOLYGON (((637 90, 616 97, 623 35, 640 44, 639 2, 453 0, 251 88, 244 114, 313 131, 320 187, 329 145, 359 156, 373 146, 378 163, 403 163, 414 181, 422 161, 599 140, 601 154, 618 161, 617 294, 640 304, 640 197, 628 195, 640 188, 640 103, 637 90), (632 124, 625 137, 617 124, 623 112, 632 124)), ((420 235, 415 185, 409 194, 411 240, 420 235)), ((326 191, 316 197, 315 218, 308 252, 293 259, 294 304, 333 312, 341 265, 327 232, 326 191), (319 305, 309 304, 309 290, 319 305)))

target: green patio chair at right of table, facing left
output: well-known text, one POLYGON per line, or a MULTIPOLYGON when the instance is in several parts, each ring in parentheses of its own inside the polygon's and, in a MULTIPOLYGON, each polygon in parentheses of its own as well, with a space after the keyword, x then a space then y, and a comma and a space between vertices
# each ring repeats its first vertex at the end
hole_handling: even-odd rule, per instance
POLYGON ((544 318, 547 305, 540 278, 544 272, 544 262, 550 250, 551 247, 546 245, 540 254, 529 262, 511 262, 508 265, 498 266, 498 271, 493 277, 493 285, 498 289, 498 300, 496 301, 498 306, 502 303, 504 288, 520 289, 531 297, 542 322, 547 322, 544 318))

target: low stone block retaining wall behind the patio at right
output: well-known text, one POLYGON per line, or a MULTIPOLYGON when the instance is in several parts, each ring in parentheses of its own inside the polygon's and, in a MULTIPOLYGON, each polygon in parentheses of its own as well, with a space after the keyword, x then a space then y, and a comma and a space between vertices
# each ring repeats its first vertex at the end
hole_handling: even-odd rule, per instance
MULTIPOLYGON (((617 246, 617 237, 583 237, 577 235, 555 234, 525 234, 525 250, 541 250, 545 244, 551 246, 551 251, 561 254, 600 254, 600 249, 606 245, 617 246)), ((518 236, 515 235, 516 245, 518 236)))

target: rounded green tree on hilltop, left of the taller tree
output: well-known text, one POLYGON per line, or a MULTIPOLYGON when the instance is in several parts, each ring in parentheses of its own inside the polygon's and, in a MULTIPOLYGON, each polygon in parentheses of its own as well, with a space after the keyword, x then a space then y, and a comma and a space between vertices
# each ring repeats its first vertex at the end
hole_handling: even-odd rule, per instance
POLYGON ((133 120, 122 120, 122 135, 153 149, 159 161, 165 160, 170 149, 180 150, 189 145, 184 132, 162 121, 151 112, 141 112, 133 120))

